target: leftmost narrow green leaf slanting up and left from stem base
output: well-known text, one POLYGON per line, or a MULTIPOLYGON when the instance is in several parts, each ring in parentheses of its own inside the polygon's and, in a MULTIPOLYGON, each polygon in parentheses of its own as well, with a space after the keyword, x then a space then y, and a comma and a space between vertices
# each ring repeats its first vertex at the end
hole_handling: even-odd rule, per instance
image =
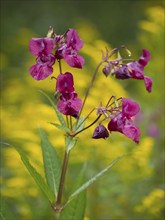
POLYGON ((24 163, 26 169, 29 171, 30 175, 33 177, 39 188, 43 191, 50 202, 54 201, 54 196, 48 185, 45 183, 43 177, 36 171, 36 169, 30 164, 25 153, 18 147, 14 146, 19 153, 22 162, 24 163))

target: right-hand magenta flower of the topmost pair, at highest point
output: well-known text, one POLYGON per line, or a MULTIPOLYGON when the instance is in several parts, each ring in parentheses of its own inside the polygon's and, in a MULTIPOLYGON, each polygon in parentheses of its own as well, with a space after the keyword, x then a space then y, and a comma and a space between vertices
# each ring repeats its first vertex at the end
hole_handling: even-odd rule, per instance
MULTIPOLYGON (((55 41, 57 41, 57 37, 59 39, 59 36, 56 36, 55 41)), ((56 51, 55 56, 57 59, 64 58, 67 64, 71 67, 81 69, 84 65, 84 58, 79 56, 77 52, 82 48, 82 46, 83 41, 79 38, 77 31, 69 29, 66 34, 66 42, 62 39, 60 40, 60 46, 56 51)))

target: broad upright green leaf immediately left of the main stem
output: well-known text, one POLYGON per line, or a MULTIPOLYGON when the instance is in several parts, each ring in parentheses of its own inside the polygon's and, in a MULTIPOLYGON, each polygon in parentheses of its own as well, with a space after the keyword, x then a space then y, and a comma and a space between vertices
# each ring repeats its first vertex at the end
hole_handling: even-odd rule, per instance
POLYGON ((54 195, 57 196, 61 174, 60 160, 58 158, 55 148, 50 143, 43 129, 39 128, 39 133, 41 137, 41 147, 46 180, 49 187, 54 192, 54 195))

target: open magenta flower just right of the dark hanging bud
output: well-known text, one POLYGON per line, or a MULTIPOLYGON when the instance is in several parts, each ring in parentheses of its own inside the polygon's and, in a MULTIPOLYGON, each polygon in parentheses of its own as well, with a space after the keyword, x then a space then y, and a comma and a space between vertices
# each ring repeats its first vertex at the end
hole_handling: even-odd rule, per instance
POLYGON ((108 124, 108 130, 118 131, 136 143, 139 143, 140 129, 136 127, 131 119, 139 112, 139 105, 131 99, 122 99, 122 111, 118 111, 108 124))

